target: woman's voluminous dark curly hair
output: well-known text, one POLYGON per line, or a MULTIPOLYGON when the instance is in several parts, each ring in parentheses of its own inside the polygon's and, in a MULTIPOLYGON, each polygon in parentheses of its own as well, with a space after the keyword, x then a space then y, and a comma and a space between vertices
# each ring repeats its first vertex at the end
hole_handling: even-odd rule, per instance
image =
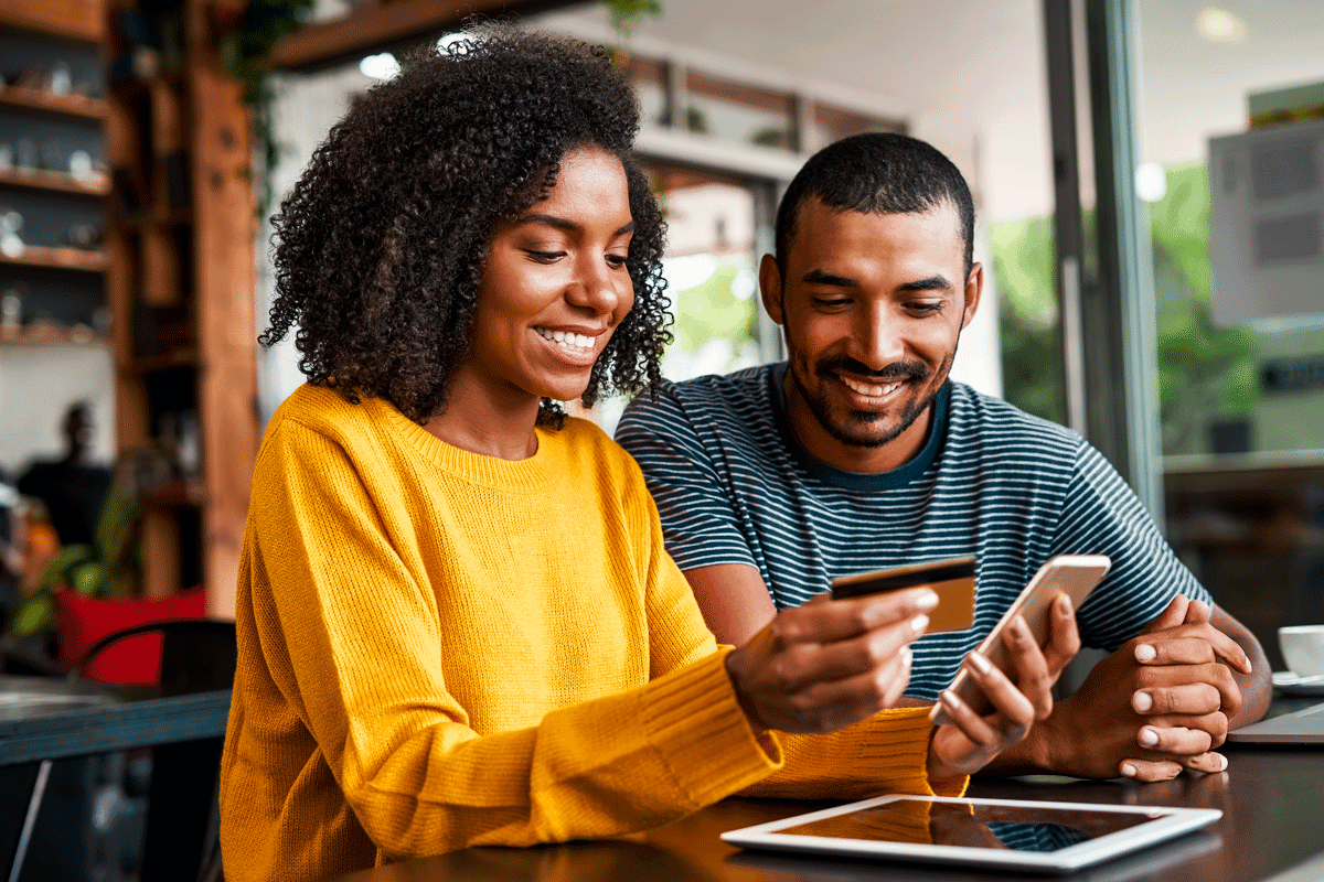
MULTIPOLYGON (((414 56, 331 130, 273 218, 277 296, 260 341, 298 328, 311 382, 426 422, 469 352, 495 225, 547 196, 567 152, 596 147, 629 181, 634 308, 581 401, 655 383, 670 341, 666 225, 630 155, 638 119, 621 71, 576 41, 487 28, 414 56)), ((564 414, 543 399, 539 418, 560 426, 564 414)))

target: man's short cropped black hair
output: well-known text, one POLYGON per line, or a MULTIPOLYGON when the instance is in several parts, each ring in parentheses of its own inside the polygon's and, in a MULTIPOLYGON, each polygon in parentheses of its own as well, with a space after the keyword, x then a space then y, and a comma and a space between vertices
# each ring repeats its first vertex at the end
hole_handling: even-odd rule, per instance
POLYGON ((777 267, 786 272, 786 249, 800 206, 812 196, 831 209, 865 214, 923 214, 951 202, 965 238, 965 274, 974 263, 974 200, 960 169, 935 147, 895 132, 843 138, 809 157, 777 208, 777 267))

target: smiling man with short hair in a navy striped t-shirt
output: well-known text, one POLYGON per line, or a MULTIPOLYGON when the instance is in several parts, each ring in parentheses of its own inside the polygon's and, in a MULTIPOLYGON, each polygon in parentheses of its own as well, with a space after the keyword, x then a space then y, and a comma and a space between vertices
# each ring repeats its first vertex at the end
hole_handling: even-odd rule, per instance
POLYGON ((974 625, 914 644, 914 701, 936 700, 1047 558, 1107 554, 1078 621, 1111 655, 989 768, 1221 771, 1229 726, 1267 707, 1263 651, 1098 451, 948 381, 984 283, 973 229, 965 180, 923 141, 859 135, 805 164, 759 272, 789 361, 667 383, 617 430, 667 550, 736 644, 838 575, 977 555, 974 625))

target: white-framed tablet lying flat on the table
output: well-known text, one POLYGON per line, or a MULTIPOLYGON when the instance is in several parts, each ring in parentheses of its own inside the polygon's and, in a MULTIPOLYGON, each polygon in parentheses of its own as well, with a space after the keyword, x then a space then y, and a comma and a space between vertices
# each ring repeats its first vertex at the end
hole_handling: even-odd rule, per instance
POLYGON ((1064 874, 1207 824, 1211 808, 879 796, 723 833, 731 845, 1064 874))

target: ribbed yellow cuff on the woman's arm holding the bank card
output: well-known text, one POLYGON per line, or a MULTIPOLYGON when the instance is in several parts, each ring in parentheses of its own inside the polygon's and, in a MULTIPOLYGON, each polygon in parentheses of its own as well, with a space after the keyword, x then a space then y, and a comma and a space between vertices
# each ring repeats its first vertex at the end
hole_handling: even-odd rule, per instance
POLYGON ((650 684, 643 726, 677 785, 711 805, 781 768, 776 738, 756 738, 727 674, 731 647, 650 684))

